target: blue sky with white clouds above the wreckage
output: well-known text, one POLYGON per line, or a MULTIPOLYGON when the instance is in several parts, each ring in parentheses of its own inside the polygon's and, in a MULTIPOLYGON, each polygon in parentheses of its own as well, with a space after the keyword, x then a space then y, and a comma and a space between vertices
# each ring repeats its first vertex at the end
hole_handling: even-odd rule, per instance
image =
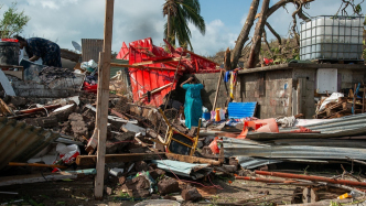
MULTIPOLYGON (((2 13, 14 0, 1 0, 2 13)), ((355 0, 356 2, 362 0, 355 0)), ((24 37, 39 36, 56 42, 62 48, 74 50, 72 41, 80 39, 103 39, 105 0, 17 0, 18 10, 31 18, 24 28, 24 37)), ((233 48, 247 18, 251 0, 201 0, 201 15, 206 22, 206 33, 202 35, 193 25, 192 45, 201 55, 214 55, 218 51, 233 48)), ((278 2, 271 0, 270 6, 278 2)), ((333 15, 340 9, 341 0, 315 0, 305 12, 310 17, 333 15)), ((152 37, 155 45, 163 45, 162 14, 164 0, 115 0, 112 51, 118 52, 122 42, 152 37)), ((260 11, 261 4, 259 6, 260 11)), ((366 13, 366 2, 362 4, 366 13)), ((259 12, 258 11, 258 12, 259 12)), ((268 22, 283 37, 289 35, 294 7, 288 3, 268 22)), ((301 20, 298 20, 301 22, 301 20)), ((254 25, 255 28, 255 25, 254 25)), ((254 28, 250 35, 254 33, 254 28)), ((268 39, 273 39, 268 33, 268 39)))

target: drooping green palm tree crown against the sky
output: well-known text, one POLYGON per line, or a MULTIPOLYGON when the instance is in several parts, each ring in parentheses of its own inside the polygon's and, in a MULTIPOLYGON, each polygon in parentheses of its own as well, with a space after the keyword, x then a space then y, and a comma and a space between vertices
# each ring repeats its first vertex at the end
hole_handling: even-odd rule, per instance
POLYGON ((198 0, 165 0, 163 4, 163 15, 168 15, 164 25, 164 37, 175 45, 175 40, 182 47, 187 47, 191 44, 191 30, 189 22, 193 23, 200 32, 204 35, 206 24, 200 14, 201 6, 198 0))

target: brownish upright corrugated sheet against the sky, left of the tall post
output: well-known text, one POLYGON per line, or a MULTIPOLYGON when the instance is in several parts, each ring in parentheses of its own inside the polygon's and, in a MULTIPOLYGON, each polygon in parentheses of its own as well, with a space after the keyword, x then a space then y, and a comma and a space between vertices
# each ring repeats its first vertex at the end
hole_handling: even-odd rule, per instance
POLYGON ((94 59, 99 62, 99 52, 103 52, 104 40, 82 39, 82 62, 94 59))

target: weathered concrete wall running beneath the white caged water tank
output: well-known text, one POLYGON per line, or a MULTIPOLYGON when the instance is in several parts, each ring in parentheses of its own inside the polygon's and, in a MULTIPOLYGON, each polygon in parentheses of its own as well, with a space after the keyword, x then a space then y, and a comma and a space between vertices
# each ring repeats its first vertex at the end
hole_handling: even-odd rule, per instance
MULTIPOLYGON (((298 113, 303 113, 304 118, 312 119, 315 115, 314 93, 316 91, 317 68, 337 69, 338 91, 354 88, 357 83, 366 83, 365 65, 289 63, 240 71, 234 100, 237 102, 257 101, 255 116, 261 119, 298 113)), ((219 74, 198 74, 196 77, 206 85, 202 90, 202 100, 203 105, 211 110, 219 74)), ((179 85, 187 78, 187 75, 183 76, 179 85)), ((225 107, 228 90, 229 84, 225 84, 222 79, 216 107, 225 107)), ((180 98, 183 98, 181 101, 184 102, 184 90, 177 89, 177 94, 180 98)))

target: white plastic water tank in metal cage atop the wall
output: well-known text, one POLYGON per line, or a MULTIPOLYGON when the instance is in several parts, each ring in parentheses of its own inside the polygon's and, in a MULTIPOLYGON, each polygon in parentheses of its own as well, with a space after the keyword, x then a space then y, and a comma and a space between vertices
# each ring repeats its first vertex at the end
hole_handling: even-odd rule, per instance
POLYGON ((364 17, 315 17, 301 22, 300 59, 362 61, 364 17))

